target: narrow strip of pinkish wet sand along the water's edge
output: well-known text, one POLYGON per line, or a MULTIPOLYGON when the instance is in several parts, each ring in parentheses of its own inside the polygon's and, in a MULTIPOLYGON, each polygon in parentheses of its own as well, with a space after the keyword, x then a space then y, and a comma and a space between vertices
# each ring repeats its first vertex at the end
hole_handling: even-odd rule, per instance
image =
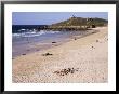
MULTIPOLYGON (((85 31, 87 32, 84 32, 84 35, 71 36, 71 37, 65 38, 65 39, 60 40, 60 41, 54 41, 56 43, 52 43, 53 41, 48 42, 48 43, 45 43, 45 42, 44 43, 37 42, 35 44, 31 43, 30 46, 35 45, 34 48, 29 48, 29 49, 24 50, 24 53, 21 53, 21 52, 14 53, 13 56, 12 56, 12 59, 14 59, 14 58, 16 58, 21 55, 26 55, 26 54, 35 53, 37 51, 44 51, 44 50, 48 50, 48 49, 51 49, 51 48, 55 48, 55 46, 62 45, 64 43, 70 42, 72 40, 77 40, 77 39, 80 39, 80 38, 83 38, 83 37, 87 37, 87 36, 90 36, 90 35, 93 35, 93 33, 97 32, 97 30, 93 30, 93 29, 88 29, 85 31)), ((14 51, 14 49, 13 49, 13 51, 14 51)))

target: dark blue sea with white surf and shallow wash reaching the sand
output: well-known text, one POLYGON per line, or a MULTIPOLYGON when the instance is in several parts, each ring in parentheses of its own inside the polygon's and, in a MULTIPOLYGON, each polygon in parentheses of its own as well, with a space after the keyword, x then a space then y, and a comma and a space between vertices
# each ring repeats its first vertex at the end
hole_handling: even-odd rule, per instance
POLYGON ((42 51, 72 40, 75 36, 84 36, 88 31, 45 31, 38 26, 17 26, 12 28, 12 56, 16 57, 36 51, 42 51), (56 43, 52 43, 56 42, 56 43))

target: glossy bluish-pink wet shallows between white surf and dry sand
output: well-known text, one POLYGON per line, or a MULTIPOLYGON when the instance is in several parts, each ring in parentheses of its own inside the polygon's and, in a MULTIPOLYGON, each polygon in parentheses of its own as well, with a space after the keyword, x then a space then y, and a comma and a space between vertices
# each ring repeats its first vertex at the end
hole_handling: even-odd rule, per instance
MULTIPOLYGON (((92 32, 97 32, 95 30, 84 30, 84 31, 60 31, 44 32, 45 35, 38 37, 28 37, 28 38, 14 38, 12 45, 12 57, 15 58, 19 55, 34 53, 36 51, 43 51, 53 46, 61 45, 63 43, 71 41, 74 36, 78 38, 85 37, 92 32)), ((39 32, 40 33, 40 32, 39 32)), ((38 35, 38 33, 37 33, 38 35)), ((34 35, 30 35, 34 36, 34 35)))

